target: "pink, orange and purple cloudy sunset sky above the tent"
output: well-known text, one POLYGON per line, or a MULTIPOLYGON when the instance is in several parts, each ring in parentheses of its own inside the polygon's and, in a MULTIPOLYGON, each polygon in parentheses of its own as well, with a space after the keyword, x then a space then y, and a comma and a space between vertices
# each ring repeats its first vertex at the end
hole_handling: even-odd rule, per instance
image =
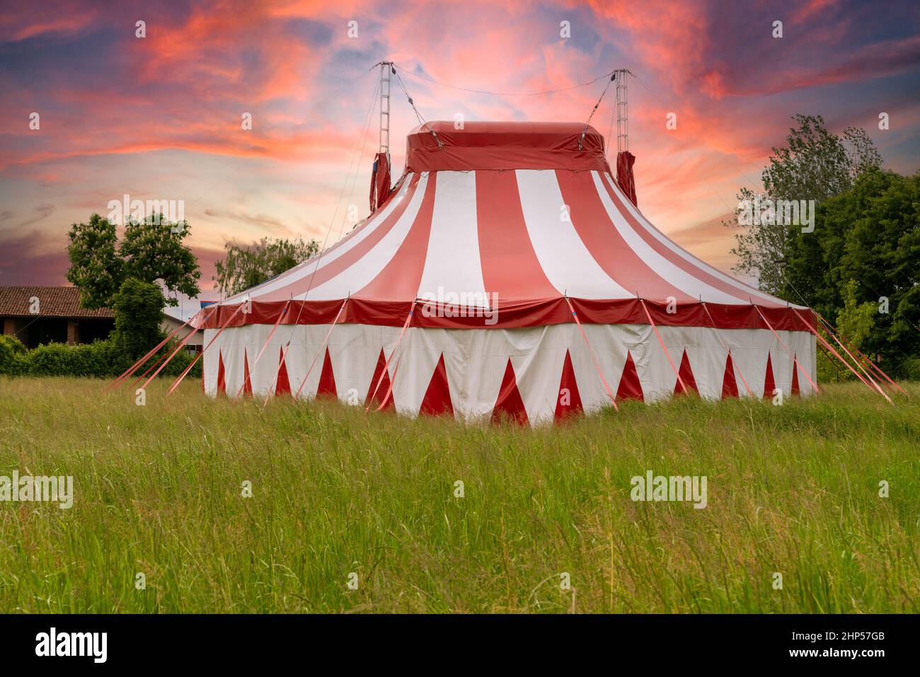
MULTIPOLYGON (((44 0, 0 12, 0 284, 63 283, 69 225, 124 194, 185 201, 204 289, 227 240, 322 240, 332 223, 334 242, 347 205, 366 212, 375 115, 362 131, 382 59, 404 69, 429 120, 585 120, 604 81, 511 95, 631 69, 639 206, 725 270, 732 237, 719 221, 794 113, 864 127, 886 166, 920 167, 915 0, 44 0)), ((398 174, 415 118, 393 95, 398 174)), ((613 100, 611 89, 592 120, 604 135, 613 100)))

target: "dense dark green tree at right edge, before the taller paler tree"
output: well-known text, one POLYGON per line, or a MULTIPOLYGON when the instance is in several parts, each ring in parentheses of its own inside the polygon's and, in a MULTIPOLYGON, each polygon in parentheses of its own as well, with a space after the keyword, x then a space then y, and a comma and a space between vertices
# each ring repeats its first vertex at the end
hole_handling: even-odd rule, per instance
POLYGON ((786 298, 837 322, 890 375, 909 373, 920 356, 920 172, 864 172, 822 203, 813 233, 789 235, 786 260, 786 298))

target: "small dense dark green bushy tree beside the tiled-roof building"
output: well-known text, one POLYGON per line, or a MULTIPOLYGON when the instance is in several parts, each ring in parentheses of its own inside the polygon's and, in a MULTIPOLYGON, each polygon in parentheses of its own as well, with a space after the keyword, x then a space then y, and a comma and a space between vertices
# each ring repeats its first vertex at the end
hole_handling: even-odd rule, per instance
POLYGON ((129 277, 121 283, 111 301, 115 330, 110 338, 122 354, 136 360, 163 340, 160 320, 166 302, 155 282, 129 277))

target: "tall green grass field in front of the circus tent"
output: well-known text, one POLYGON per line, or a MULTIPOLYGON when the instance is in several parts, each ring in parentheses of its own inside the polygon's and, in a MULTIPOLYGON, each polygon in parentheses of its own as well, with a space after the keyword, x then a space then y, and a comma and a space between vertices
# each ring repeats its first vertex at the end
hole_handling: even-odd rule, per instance
POLYGON ((262 411, 197 383, 168 398, 153 384, 137 407, 103 386, 0 379, 0 475, 74 476, 75 494, 70 510, 0 503, 0 611, 920 605, 917 385, 894 407, 842 384, 782 407, 683 397, 538 430, 262 411), (633 502, 649 470, 707 476, 707 508, 633 502))

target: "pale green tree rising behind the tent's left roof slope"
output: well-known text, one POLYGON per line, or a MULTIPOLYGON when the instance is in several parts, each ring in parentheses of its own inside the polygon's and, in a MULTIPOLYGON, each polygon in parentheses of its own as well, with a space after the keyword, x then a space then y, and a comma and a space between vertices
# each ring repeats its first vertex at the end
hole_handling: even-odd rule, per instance
POLYGON ((221 293, 232 296, 303 263, 316 255, 319 243, 316 240, 305 242, 301 238, 292 242, 263 237, 247 246, 227 242, 224 249, 226 257, 215 264, 217 274, 213 280, 221 293))

